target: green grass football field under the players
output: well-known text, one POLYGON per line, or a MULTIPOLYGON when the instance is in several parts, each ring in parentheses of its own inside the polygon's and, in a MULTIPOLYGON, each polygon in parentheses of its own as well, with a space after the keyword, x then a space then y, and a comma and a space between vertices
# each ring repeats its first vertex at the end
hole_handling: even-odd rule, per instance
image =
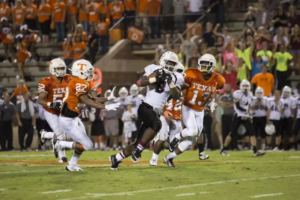
POLYGON ((199 161, 196 151, 188 151, 174 160, 177 168, 162 162, 149 167, 152 152, 144 152, 137 165, 127 158, 118 171, 110 170, 112 153, 85 152, 79 163, 84 171, 66 172, 51 152, 2 152, 0 199, 300 199, 300 152, 222 157, 213 151, 199 161))

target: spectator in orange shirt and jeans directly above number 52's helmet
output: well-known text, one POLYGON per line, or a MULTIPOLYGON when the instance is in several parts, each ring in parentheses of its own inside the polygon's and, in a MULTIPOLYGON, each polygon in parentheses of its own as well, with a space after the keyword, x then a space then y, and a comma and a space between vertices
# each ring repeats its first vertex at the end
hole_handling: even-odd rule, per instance
POLYGON ((65 38, 65 19, 66 5, 62 0, 56 0, 52 11, 52 22, 55 24, 58 42, 62 42, 65 38))

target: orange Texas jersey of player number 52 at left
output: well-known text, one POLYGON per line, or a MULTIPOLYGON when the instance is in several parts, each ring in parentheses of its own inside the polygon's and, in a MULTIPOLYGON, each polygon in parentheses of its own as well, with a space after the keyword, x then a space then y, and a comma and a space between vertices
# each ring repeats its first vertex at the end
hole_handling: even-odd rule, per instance
MULTIPOLYGON (((62 79, 62 83, 56 81, 53 76, 43 78, 39 81, 38 91, 39 93, 47 93, 45 100, 48 102, 62 103, 62 100, 65 97, 66 87, 71 79, 72 76, 69 74, 62 79)), ((48 108, 47 106, 44 106, 44 108, 52 114, 59 115, 59 109, 48 108)))

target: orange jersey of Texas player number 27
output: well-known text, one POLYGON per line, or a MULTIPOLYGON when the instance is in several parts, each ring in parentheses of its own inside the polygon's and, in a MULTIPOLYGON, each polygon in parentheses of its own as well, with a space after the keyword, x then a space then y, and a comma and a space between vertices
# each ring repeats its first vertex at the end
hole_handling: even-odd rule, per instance
POLYGON ((66 103, 66 106, 69 110, 80 114, 80 108, 82 106, 82 101, 79 99, 81 95, 87 95, 90 84, 79 77, 74 77, 69 82, 66 88, 65 98, 63 103, 66 103))

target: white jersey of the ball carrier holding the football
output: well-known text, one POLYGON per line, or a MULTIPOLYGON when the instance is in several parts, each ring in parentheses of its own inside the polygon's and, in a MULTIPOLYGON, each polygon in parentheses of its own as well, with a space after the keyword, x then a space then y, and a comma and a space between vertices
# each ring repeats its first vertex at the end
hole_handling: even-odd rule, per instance
MULTIPOLYGON (((160 66, 157 65, 148 65, 145 67, 145 74, 144 76, 149 76, 155 71, 161 71, 163 70, 160 66)), ((176 86, 180 86, 184 83, 183 77, 178 72, 174 72, 171 74, 172 81, 176 86)), ((157 85, 156 88, 150 89, 149 86, 147 86, 147 94, 145 97, 145 103, 153 106, 154 108, 160 108, 162 109, 163 106, 167 103, 167 99, 170 95, 171 89, 167 83, 167 80, 164 82, 161 82, 157 85)))

